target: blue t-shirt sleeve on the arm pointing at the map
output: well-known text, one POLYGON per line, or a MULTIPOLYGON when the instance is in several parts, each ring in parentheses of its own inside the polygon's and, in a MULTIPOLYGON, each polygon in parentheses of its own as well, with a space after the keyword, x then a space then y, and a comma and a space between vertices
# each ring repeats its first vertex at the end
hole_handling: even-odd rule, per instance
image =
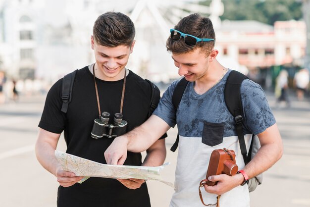
POLYGON ((178 81, 174 81, 163 93, 154 115, 164 120, 170 127, 176 125, 176 112, 172 104, 172 94, 178 81))

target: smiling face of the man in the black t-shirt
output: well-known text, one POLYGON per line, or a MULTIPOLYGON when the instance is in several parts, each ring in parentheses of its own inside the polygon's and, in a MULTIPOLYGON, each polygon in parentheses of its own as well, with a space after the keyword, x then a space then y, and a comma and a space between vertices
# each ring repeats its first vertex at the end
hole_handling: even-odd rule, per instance
POLYGON ((129 55, 133 51, 135 41, 131 47, 120 45, 117 47, 105 47, 99 45, 91 37, 92 49, 95 52, 96 77, 105 81, 117 81, 124 78, 125 66, 127 65, 129 55))

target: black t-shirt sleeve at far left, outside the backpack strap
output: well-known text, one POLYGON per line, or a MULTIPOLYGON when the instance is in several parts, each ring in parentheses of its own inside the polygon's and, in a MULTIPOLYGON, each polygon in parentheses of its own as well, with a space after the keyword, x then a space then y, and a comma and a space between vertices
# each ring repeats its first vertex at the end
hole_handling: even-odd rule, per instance
POLYGON ((39 123, 40 128, 56 134, 63 131, 66 120, 65 114, 61 112, 61 87, 62 79, 58 80, 50 89, 39 123))

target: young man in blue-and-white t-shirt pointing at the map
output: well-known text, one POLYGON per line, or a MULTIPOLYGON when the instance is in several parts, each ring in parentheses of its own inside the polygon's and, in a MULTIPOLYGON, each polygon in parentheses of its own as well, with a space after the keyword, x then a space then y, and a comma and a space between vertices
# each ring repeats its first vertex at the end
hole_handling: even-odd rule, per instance
POLYGON ((155 142, 156 137, 178 125, 179 151, 175 172, 176 191, 170 207, 203 206, 198 187, 205 179, 210 154, 215 149, 227 148, 236 153, 241 173, 234 176, 220 174, 208 177, 217 182, 205 185, 206 204, 220 207, 249 207, 248 178, 271 167, 283 154, 281 136, 264 92, 253 81, 244 80, 241 97, 245 115, 244 133, 247 150, 252 134, 258 136, 261 148, 245 165, 240 152, 234 117, 224 101, 224 86, 230 69, 217 60, 214 49, 215 34, 211 21, 199 14, 184 17, 170 30, 166 47, 172 52, 174 64, 188 84, 180 105, 175 111, 172 94, 178 81, 163 94, 153 115, 141 126, 116 138, 105 151, 110 164, 122 164, 128 151, 140 152, 155 142), (148 138, 148 139, 146 139, 148 138))

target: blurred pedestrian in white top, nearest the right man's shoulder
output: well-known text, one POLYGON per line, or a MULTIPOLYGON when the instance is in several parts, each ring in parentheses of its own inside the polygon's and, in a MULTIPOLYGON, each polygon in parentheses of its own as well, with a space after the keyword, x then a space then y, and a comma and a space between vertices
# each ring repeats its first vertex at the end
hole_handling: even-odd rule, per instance
POLYGON ((288 72, 286 70, 281 70, 276 79, 275 96, 278 103, 285 102, 287 106, 290 106, 288 97, 288 72))

